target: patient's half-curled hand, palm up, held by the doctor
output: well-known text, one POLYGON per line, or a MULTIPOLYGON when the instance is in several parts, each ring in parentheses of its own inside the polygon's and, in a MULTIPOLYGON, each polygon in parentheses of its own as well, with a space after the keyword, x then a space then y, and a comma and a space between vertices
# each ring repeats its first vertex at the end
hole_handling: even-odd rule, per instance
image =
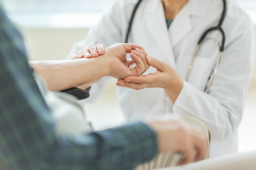
POLYGON ((132 44, 115 44, 106 49, 102 67, 110 67, 110 76, 117 79, 138 77, 149 69, 146 62, 146 52, 142 47, 132 44), (132 59, 127 59, 126 54, 131 53, 132 59))

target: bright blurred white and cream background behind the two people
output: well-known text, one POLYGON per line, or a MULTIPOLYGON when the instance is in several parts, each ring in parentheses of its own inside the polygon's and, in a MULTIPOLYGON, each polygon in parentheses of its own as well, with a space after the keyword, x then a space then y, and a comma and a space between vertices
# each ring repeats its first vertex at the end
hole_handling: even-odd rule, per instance
MULTIPOLYGON (((65 60, 72 45, 87 37, 113 0, 2 0, 9 18, 26 42, 29 60, 65 60)), ((256 1, 238 0, 252 17, 256 41, 256 1)), ((256 52, 255 52, 256 54, 256 52)), ((117 103, 116 79, 108 81, 102 96, 85 106, 95 130, 124 123, 117 103)), ((239 152, 256 150, 256 56, 245 114, 239 128, 239 152)))

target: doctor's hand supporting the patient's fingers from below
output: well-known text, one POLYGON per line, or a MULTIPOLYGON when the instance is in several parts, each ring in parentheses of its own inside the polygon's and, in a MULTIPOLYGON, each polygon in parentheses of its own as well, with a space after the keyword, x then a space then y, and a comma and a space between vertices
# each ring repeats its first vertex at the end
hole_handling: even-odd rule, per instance
POLYGON ((165 62, 156 60, 154 57, 146 57, 146 62, 157 69, 156 73, 147 74, 142 77, 127 77, 119 79, 117 86, 140 90, 145 88, 163 88, 173 103, 183 89, 183 79, 178 72, 165 62))

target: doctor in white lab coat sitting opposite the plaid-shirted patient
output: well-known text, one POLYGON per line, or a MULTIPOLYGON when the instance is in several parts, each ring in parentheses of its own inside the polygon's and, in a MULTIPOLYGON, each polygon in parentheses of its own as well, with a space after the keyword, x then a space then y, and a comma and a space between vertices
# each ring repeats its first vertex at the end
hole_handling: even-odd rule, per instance
MULTIPOLYGON (((101 42, 109 47, 125 42, 136 4, 134 0, 114 1, 100 23, 90 29, 87 39, 74 45, 68 58, 90 44, 101 42)), ((218 58, 218 43, 208 40, 193 61, 188 81, 185 81, 186 74, 199 38, 208 28, 218 25, 223 0, 142 1, 134 17, 129 42, 141 45, 150 56, 169 64, 177 72, 171 74, 170 79, 182 81, 177 81, 181 84, 173 89, 174 98, 162 88, 135 91, 118 87, 118 100, 129 122, 156 114, 191 115, 202 120, 211 131, 210 157, 238 151, 238 126, 252 71, 254 42, 250 17, 236 1, 227 0, 227 8, 222 25, 225 50, 213 84, 208 93, 204 93, 218 58)), ((217 30, 207 37, 223 40, 217 30)), ((87 57, 97 57, 93 48, 90 52, 92 55, 87 57)), ((164 65, 156 68, 161 70, 164 65)), ((153 72, 156 69, 151 67, 146 74, 153 72)), ((92 98, 87 102, 100 96, 107 79, 100 79, 92 86, 92 98)))

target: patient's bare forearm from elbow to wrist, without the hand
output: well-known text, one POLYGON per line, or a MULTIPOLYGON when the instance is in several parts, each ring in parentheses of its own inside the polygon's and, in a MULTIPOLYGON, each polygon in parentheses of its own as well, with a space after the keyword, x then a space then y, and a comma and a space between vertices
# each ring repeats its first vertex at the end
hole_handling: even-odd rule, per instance
POLYGON ((107 76, 109 67, 104 58, 90 60, 49 60, 30 62, 31 67, 47 82, 50 91, 62 91, 107 76))

